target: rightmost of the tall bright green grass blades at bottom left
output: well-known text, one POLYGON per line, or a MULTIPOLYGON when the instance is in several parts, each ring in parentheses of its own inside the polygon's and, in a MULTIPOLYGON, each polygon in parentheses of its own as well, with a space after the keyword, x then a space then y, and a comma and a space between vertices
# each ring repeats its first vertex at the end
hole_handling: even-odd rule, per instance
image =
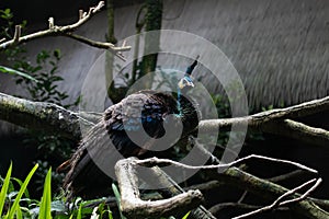
POLYGON ((39 205, 38 218, 52 218, 52 168, 44 183, 44 193, 39 205))

